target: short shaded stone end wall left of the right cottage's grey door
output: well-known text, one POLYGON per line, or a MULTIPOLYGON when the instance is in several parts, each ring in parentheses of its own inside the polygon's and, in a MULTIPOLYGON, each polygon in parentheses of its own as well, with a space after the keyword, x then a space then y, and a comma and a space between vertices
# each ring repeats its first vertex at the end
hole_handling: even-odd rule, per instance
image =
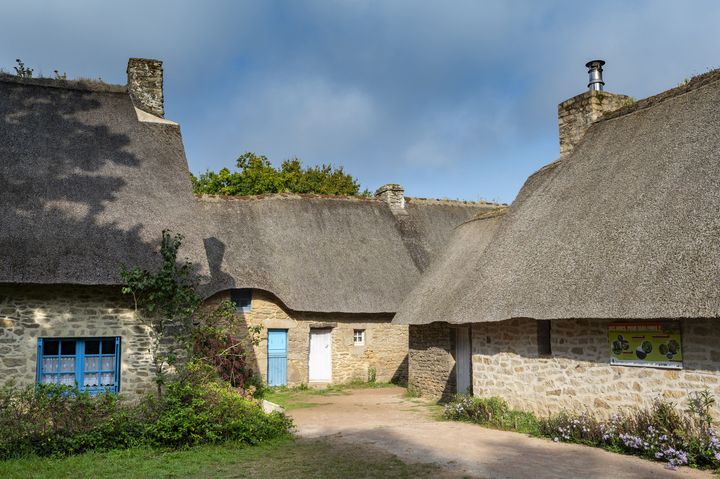
POLYGON ((408 386, 422 396, 455 394, 455 329, 448 323, 410 325, 408 386))

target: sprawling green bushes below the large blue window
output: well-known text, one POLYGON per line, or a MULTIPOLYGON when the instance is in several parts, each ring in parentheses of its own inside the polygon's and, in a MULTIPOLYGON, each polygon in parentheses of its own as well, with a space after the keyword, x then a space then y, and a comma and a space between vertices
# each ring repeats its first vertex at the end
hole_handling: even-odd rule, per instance
POLYGON ((0 459, 224 441, 253 445, 292 428, 284 414, 264 413, 231 385, 200 378, 186 374, 168 384, 163 396, 134 404, 67 386, 5 386, 0 389, 0 459))

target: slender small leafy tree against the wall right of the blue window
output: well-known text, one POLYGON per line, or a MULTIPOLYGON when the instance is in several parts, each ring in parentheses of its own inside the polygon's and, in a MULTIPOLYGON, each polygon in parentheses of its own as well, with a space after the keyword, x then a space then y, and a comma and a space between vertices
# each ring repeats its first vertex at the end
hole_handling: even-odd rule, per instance
POLYGON ((150 328, 149 352, 155 372, 158 395, 167 381, 169 369, 177 358, 173 339, 182 336, 202 298, 196 292, 200 282, 190 262, 179 263, 178 250, 183 236, 163 230, 160 244, 162 265, 156 272, 123 266, 123 294, 132 295, 135 311, 150 328))

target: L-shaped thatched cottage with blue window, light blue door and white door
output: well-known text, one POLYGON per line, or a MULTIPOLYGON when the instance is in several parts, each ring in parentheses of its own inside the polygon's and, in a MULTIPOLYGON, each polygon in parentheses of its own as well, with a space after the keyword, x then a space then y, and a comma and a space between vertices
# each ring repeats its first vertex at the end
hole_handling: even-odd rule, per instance
POLYGON ((0 76, 0 382, 153 387, 148 331, 122 265, 155 267, 163 229, 262 326, 249 361, 272 384, 402 378, 407 326, 390 321, 452 229, 496 205, 277 195, 195 198, 162 63, 127 86, 0 76))

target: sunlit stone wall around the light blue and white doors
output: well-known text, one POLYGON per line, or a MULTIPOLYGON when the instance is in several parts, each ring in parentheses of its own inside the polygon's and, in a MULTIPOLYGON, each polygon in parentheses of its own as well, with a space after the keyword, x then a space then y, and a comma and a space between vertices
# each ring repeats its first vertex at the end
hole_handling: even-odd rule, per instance
MULTIPOLYGON (((230 299, 228 291, 216 294, 206 305, 212 307, 222 300, 230 299)), ((253 290, 252 306, 241 314, 238 336, 245 337, 250 367, 259 371, 267 380, 267 332, 268 329, 288 330, 288 385, 308 383, 308 359, 310 353, 310 329, 332 329, 332 382, 345 383, 352 380, 368 380, 371 368, 375 368, 377 381, 407 379, 408 328, 390 324, 391 314, 341 314, 291 311, 273 294, 253 290), (260 325, 260 343, 252 346, 247 336, 249 326, 260 325), (365 330, 365 345, 355 346, 353 330, 365 330)))

